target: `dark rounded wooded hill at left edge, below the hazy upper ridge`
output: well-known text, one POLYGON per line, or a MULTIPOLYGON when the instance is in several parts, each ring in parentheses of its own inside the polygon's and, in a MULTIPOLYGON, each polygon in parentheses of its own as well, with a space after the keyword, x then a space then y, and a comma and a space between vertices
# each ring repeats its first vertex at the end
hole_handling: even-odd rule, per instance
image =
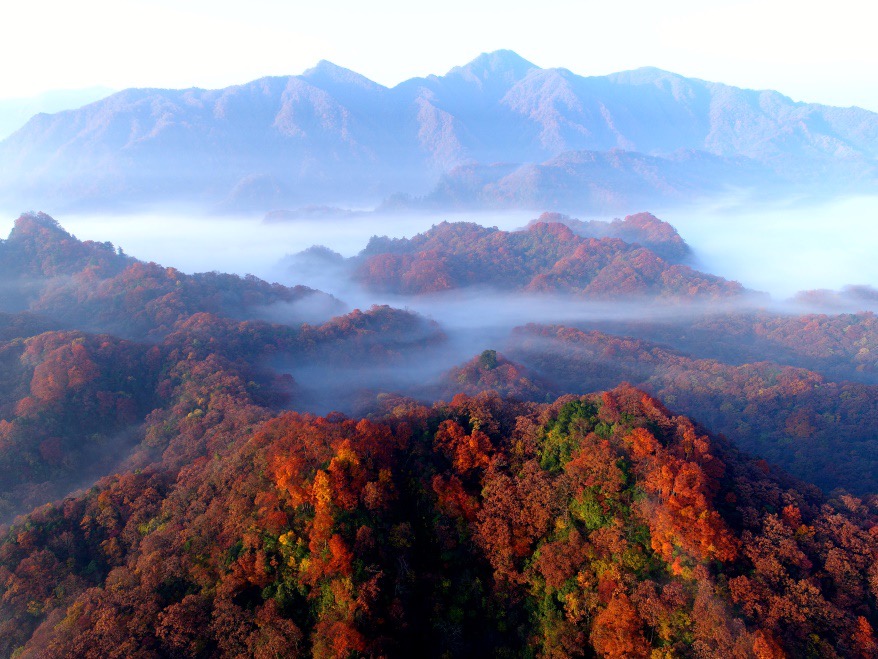
POLYGON ((0 343, 0 520, 112 470, 157 403, 160 366, 157 350, 108 336, 0 343))

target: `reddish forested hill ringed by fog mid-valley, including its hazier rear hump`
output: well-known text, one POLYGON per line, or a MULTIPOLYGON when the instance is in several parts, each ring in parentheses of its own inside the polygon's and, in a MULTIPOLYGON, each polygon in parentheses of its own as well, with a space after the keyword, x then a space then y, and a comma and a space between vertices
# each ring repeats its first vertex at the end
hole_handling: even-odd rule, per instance
POLYGON ((411 238, 374 236, 346 262, 318 249, 285 265, 294 275, 299 267, 322 264, 372 291, 397 295, 474 286, 617 301, 704 301, 752 293, 685 265, 688 256, 673 227, 649 213, 611 223, 544 213, 522 230, 441 222, 411 238))

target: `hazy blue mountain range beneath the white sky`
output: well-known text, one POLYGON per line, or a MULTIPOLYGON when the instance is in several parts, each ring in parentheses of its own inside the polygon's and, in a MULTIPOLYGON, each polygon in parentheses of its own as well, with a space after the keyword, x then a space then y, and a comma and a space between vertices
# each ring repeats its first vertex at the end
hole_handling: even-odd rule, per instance
POLYGON ((582 77, 497 51, 392 88, 323 61, 39 114, 0 142, 0 202, 599 210, 873 190, 876 164, 878 114, 863 109, 654 68, 582 77))

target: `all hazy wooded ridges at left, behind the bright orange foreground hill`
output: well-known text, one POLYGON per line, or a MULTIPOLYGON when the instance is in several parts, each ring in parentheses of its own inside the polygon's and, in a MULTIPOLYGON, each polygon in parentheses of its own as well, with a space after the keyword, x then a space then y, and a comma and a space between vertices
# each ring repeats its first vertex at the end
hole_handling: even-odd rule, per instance
POLYGON ((323 294, 143 263, 42 214, 20 217, 0 242, 0 270, 2 306, 39 312, 0 313, 0 522, 126 468, 150 443, 147 418, 177 404, 174 383, 196 364, 234 374, 272 406, 300 389, 271 363, 369 367, 444 339, 389 307, 315 325, 240 320, 323 294))

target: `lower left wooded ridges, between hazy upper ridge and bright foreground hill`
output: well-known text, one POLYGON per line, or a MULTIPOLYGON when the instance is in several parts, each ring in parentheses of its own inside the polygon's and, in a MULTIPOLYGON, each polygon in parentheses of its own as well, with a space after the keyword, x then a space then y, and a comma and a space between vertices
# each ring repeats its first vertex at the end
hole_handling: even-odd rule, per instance
MULTIPOLYGON (((443 340, 415 314, 375 307, 297 328, 196 313, 150 344, 78 331, 0 342, 0 522, 130 467, 152 441, 144 424, 180 404, 175 387, 193 373, 227 372, 268 408, 301 405, 302 387, 272 365, 375 368, 443 340)), ((193 400, 186 414, 200 417, 205 397, 193 400)))

